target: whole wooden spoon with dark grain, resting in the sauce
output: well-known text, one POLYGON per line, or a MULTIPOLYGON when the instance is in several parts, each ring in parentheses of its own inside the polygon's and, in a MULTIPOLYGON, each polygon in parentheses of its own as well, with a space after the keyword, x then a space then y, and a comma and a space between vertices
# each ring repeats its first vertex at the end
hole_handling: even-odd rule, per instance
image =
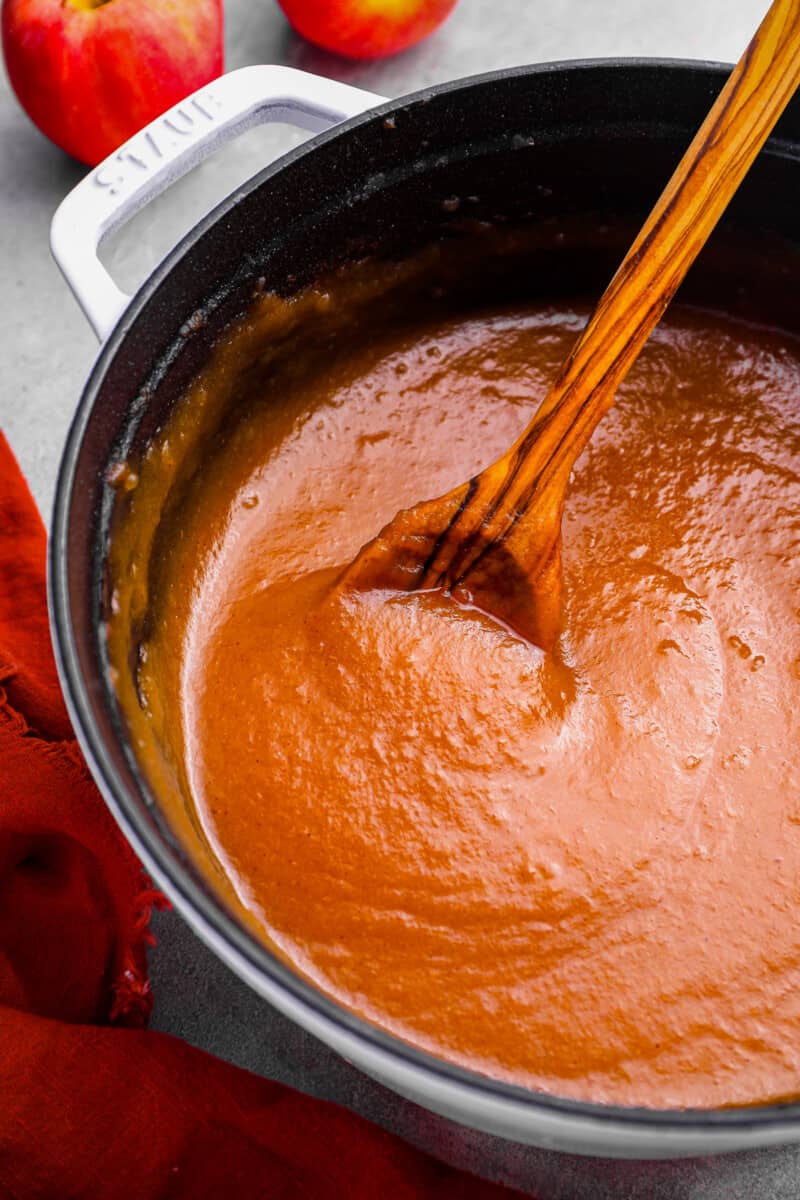
POLYGON ((799 83, 800 0, 775 0, 528 428, 479 475, 399 512, 339 587, 441 589, 553 646, 572 467, 799 83))

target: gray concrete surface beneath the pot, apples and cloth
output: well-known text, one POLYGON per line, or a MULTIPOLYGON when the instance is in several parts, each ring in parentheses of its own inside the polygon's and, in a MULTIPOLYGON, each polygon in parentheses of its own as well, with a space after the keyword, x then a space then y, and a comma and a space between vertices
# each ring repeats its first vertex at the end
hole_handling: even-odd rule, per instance
MULTIPOLYGON (((522 62, 595 55, 732 61, 766 0, 461 0, 423 46, 355 65, 295 38, 272 0, 227 0, 229 68, 288 62, 393 96, 522 62)), ((104 258, 127 287, 219 197, 297 134, 255 131, 136 218, 104 258)), ((83 168, 26 121, 0 78, 0 425, 47 516, 67 424, 96 347, 50 262, 60 198, 83 168)), ((800 1150, 630 1164, 565 1158, 449 1124, 365 1079, 239 983, 173 913, 155 922, 156 1028, 231 1062, 338 1100, 417 1145, 541 1200, 798 1200, 800 1150)))

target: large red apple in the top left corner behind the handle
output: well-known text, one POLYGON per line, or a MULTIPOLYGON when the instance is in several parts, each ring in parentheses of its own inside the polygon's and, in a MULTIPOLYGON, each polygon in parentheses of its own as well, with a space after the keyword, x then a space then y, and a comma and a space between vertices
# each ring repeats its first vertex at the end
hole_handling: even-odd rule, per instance
POLYGON ((34 124, 94 167, 221 74, 222 0, 2 0, 2 49, 34 124))

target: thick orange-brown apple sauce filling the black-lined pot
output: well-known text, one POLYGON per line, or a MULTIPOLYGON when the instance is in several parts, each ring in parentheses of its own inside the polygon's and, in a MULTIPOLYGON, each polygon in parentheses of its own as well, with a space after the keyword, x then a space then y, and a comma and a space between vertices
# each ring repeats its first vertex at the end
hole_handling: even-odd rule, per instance
POLYGON ((185 505, 143 692, 174 661, 211 846, 357 1013, 560 1096, 796 1096, 798 344, 664 320, 573 475, 555 655, 438 595, 331 598, 511 443, 584 319, 495 308, 284 372, 285 415, 251 407, 185 505))

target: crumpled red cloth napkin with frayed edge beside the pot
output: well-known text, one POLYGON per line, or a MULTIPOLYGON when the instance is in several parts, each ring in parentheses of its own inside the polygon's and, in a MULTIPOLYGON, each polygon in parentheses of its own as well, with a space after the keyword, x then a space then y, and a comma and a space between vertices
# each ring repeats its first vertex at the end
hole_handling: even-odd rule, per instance
POLYGON ((0 1196, 512 1195, 144 1030, 156 899, 73 740, 44 529, 0 433, 0 1196))

